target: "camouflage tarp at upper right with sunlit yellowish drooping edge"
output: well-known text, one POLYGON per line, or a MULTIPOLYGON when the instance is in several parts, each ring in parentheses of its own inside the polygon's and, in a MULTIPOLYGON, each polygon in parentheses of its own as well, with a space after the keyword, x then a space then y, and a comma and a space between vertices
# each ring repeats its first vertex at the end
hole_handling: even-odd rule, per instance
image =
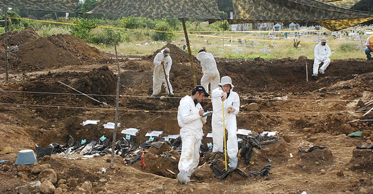
POLYGON ((314 21, 336 31, 373 20, 373 13, 345 9, 316 0, 232 0, 232 3, 231 24, 314 21))

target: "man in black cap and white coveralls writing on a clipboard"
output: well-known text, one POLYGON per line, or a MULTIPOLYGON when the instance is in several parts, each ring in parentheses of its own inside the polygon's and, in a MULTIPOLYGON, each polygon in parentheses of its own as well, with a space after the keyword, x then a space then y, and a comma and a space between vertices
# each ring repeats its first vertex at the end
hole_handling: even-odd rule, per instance
POLYGON ((182 141, 179 160, 178 180, 181 184, 188 184, 189 177, 195 171, 200 161, 200 145, 202 140, 202 127, 206 117, 200 104, 205 97, 210 96, 203 86, 195 86, 191 96, 184 96, 178 108, 178 123, 181 127, 180 138, 182 141))

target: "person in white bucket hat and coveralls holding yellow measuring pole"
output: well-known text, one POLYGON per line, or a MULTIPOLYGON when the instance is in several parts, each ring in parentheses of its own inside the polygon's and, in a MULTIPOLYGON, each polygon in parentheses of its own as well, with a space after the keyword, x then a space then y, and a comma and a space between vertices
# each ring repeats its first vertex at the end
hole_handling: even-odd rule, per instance
POLYGON ((230 162, 229 168, 236 168, 238 163, 236 114, 239 111, 239 96, 232 91, 233 87, 232 79, 224 76, 219 83, 219 88, 211 92, 213 108, 211 127, 214 143, 212 152, 223 152, 223 142, 225 141, 223 137, 226 128, 228 131, 227 152, 230 162))

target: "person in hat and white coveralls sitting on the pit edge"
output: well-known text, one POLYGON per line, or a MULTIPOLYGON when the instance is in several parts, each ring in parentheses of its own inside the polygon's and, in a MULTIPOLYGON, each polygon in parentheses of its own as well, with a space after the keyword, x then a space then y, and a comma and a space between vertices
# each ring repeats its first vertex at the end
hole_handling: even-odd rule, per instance
POLYGON ((319 44, 316 45, 315 47, 315 51, 314 51, 314 55, 315 55, 315 59, 313 61, 313 74, 312 76, 314 78, 317 78, 317 70, 320 72, 320 74, 325 74, 325 70, 327 68, 327 66, 329 66, 330 64, 330 55, 332 53, 330 53, 330 48, 329 48, 329 45, 326 45, 326 38, 321 38, 321 41, 319 44), (324 63, 320 69, 319 69, 319 65, 320 63, 324 63))

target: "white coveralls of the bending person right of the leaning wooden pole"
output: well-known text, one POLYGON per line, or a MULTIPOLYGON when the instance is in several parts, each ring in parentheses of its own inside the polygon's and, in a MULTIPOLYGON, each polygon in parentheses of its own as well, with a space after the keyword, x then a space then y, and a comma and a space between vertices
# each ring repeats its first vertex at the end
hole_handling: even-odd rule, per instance
POLYGON ((196 58, 201 61, 203 76, 201 78, 201 85, 205 88, 206 92, 209 93, 209 83, 210 91, 218 87, 220 74, 216 67, 216 62, 211 53, 206 53, 204 51, 197 54, 196 58))

